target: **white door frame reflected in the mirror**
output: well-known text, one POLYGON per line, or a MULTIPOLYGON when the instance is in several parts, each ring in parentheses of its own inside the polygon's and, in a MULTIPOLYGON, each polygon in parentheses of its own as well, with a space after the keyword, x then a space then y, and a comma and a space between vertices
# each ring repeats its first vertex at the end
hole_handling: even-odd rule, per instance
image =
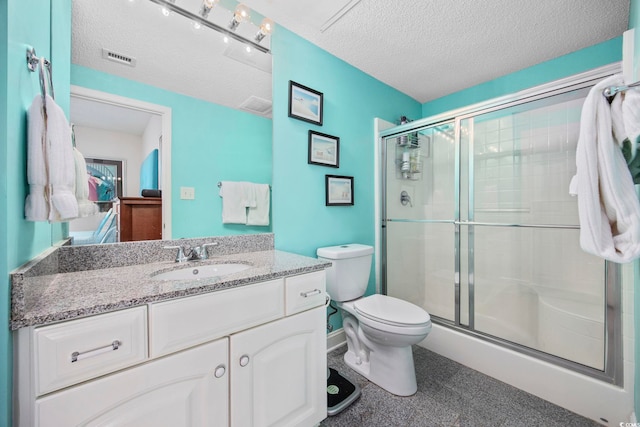
POLYGON ((71 85, 71 96, 160 116, 162 120, 162 142, 160 143, 162 153, 162 239, 171 239, 171 108, 76 85, 71 85))

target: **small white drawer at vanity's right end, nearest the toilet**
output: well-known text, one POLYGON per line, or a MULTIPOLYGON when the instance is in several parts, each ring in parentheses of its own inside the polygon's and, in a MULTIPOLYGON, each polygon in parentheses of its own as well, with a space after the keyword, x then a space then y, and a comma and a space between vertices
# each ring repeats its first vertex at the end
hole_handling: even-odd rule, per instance
POLYGON ((286 315, 290 316, 325 303, 325 271, 285 279, 286 315))

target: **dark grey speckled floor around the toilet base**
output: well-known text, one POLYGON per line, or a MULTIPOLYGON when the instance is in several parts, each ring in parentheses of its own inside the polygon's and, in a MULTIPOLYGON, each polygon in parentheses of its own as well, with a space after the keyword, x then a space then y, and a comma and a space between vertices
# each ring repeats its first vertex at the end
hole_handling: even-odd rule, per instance
POLYGON ((322 427, 590 427, 600 424, 553 405, 422 347, 414 347, 418 391, 398 397, 348 368, 346 346, 328 365, 356 381, 362 395, 322 427))

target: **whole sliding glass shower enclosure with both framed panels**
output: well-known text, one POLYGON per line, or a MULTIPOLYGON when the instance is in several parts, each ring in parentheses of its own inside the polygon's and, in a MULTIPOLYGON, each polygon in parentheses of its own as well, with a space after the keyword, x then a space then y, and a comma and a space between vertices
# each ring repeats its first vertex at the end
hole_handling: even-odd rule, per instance
POLYGON ((568 191, 593 84, 382 132, 382 286, 439 324, 617 383, 618 266, 581 250, 568 191))

